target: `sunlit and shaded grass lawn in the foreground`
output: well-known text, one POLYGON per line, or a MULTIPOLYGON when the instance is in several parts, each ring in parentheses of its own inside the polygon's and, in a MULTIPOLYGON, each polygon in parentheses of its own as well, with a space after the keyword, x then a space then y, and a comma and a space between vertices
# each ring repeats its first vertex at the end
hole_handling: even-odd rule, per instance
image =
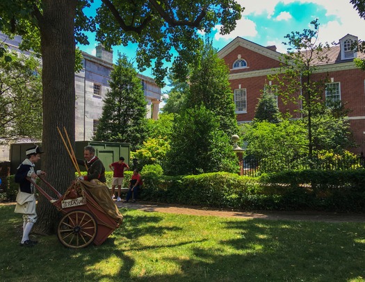
POLYGON ((76 250, 56 235, 20 247, 13 210, 0 206, 0 281, 365 281, 363 223, 121 209, 124 224, 104 244, 76 250))

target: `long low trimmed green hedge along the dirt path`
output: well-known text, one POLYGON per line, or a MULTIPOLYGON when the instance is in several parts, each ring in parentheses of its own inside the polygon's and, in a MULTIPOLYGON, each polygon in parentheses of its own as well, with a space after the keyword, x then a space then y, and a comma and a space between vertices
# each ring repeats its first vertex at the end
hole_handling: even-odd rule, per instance
POLYGON ((144 174, 141 199, 241 210, 365 212, 365 169, 286 171, 260 178, 226 172, 192 176, 144 174))

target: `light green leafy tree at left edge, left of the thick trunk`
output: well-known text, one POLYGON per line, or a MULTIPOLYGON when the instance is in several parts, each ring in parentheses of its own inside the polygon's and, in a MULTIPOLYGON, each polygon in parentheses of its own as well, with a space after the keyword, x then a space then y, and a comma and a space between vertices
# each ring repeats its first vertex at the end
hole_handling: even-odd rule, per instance
POLYGON ((15 51, 0 57, 0 136, 6 140, 42 138, 40 61, 15 51))

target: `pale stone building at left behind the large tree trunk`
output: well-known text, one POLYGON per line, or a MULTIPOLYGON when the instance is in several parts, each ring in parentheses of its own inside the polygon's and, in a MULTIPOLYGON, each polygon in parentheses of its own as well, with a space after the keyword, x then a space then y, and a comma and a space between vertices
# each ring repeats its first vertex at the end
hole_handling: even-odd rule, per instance
MULTIPOLYGON (((22 40, 20 36, 9 40, 6 35, 0 33, 0 42, 8 44, 10 49, 19 51, 20 40, 22 40)), ((102 44, 99 44, 96 56, 86 52, 82 54, 83 69, 75 74, 75 140, 90 141, 95 133, 99 117, 102 116, 103 99, 107 90, 110 89, 108 81, 113 69, 113 51, 106 51, 102 44)), ((156 85, 153 78, 143 74, 138 74, 138 77, 143 85, 147 101, 146 118, 158 119, 161 88, 156 85)), ((9 150, 9 146, 0 146, 0 160, 9 160, 9 150)))

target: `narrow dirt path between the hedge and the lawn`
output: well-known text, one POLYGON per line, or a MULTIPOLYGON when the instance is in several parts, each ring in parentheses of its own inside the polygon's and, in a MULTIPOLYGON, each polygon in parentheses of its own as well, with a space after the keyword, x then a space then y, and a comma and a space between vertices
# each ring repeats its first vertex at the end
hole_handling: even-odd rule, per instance
POLYGON ((217 217, 241 217, 241 218, 262 218, 300 220, 316 222, 365 222, 365 214, 358 213, 325 213, 316 211, 306 212, 270 212, 261 211, 258 213, 245 213, 242 211, 214 210, 211 208, 199 208, 193 206, 156 204, 138 201, 137 203, 115 202, 118 208, 131 208, 144 210, 146 212, 178 213, 183 215, 217 216, 217 217))

